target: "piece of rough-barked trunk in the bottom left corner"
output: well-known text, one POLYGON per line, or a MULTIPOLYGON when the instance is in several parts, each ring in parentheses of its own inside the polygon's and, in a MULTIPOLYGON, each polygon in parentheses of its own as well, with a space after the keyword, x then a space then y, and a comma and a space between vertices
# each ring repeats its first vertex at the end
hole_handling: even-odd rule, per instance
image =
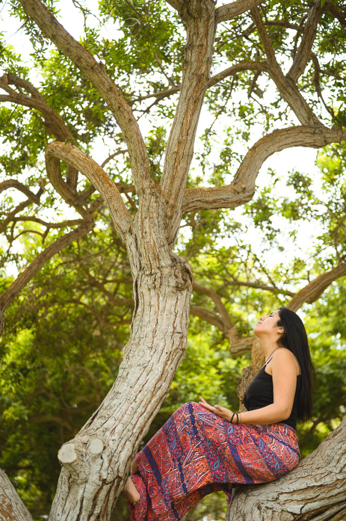
POLYGON ((32 521, 15 487, 0 469, 0 521, 32 521))

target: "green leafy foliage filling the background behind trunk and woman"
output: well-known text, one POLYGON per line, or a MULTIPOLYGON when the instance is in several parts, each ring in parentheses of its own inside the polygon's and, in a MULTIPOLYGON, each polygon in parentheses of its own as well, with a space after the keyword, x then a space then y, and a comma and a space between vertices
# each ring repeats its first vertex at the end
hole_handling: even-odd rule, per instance
MULTIPOLYGON (((63 21, 63 3, 45 3, 63 21)), ((162 0, 100 0, 98 11, 93 2, 73 3, 75 13, 82 10, 85 17, 80 41, 105 64, 134 110, 152 177, 158 181, 181 81, 184 28, 162 0), (89 12, 94 8, 96 18, 89 12)), ((299 91, 321 121, 344 128, 344 11, 336 1, 323 4, 299 91)), ((63 199, 46 178, 48 141, 78 144, 104 163, 108 175, 124 188, 130 212, 138 202, 124 138, 105 102, 15 0, 7 7, 16 28, 22 25, 20 38, 32 47, 23 58, 4 33, 3 73, 30 81, 65 121, 69 134, 58 135, 54 122, 28 100, 25 104, 23 99, 15 103, 1 98, 1 180, 14 179, 34 193, 41 187, 39 201, 33 197, 27 201, 27 195, 14 187, 2 192, 1 292, 43 247, 78 226, 83 209, 98 200, 82 176, 75 187, 76 192, 85 191, 82 206, 63 199)), ((283 68, 297 53, 308 8, 309 2, 262 4, 261 14, 283 68)), ((213 75, 230 64, 265 61, 249 13, 220 24, 213 75)), ((28 85, 16 81, 9 83, 31 97, 28 85)), ((228 183, 249 144, 292 123, 296 116, 265 71, 244 70, 216 82, 207 91, 188 187, 228 183)), ((315 175, 266 169, 258 178, 254 199, 245 206, 183 217, 175 252, 193 268, 197 283, 221 297, 239 337, 251 334, 256 316, 286 305, 308 281, 346 262, 345 160, 344 143, 328 146, 317 156, 315 175)), ((62 165, 62 176, 69 176, 67 165, 62 165)), ((0 466, 35 521, 44 518, 54 497, 57 450, 78 432, 116 379, 129 336, 133 303, 127 255, 105 204, 95 206, 94 219, 93 231, 50 259, 6 314, 0 359, 0 466)), ((345 311, 344 278, 302 308, 317 371, 313 421, 299 428, 304 456, 345 414, 345 311)), ((198 400, 199 395, 237 408, 237 379, 250 358, 232 356, 224 326, 208 291, 195 290, 186 357, 147 437, 178 405, 198 400)), ((205 514, 219 519, 224 510, 222 497, 213 495, 186 519, 197 521, 205 514)), ((114 513, 118 521, 126 516, 122 506, 114 513)))

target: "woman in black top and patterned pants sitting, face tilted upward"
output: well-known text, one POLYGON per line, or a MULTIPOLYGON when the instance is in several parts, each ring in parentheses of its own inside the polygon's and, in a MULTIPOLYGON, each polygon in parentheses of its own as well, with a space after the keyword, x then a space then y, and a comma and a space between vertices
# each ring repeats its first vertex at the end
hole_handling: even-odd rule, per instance
POLYGON ((230 502, 241 483, 272 481, 300 460, 297 420, 311 417, 315 376, 303 322, 281 307, 253 329, 265 364, 250 383, 246 412, 188 402, 136 454, 123 494, 132 521, 180 521, 205 495, 230 502))

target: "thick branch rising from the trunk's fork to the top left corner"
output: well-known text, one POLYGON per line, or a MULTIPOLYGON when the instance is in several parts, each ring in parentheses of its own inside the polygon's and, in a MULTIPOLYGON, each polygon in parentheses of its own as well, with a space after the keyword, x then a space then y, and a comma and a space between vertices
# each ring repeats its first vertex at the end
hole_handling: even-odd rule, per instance
POLYGON ((145 188, 153 184, 147 151, 138 123, 121 91, 107 75, 104 65, 98 63, 85 47, 72 38, 40 0, 19 0, 19 2, 41 31, 73 61, 104 98, 124 134, 136 192, 142 195, 145 188))

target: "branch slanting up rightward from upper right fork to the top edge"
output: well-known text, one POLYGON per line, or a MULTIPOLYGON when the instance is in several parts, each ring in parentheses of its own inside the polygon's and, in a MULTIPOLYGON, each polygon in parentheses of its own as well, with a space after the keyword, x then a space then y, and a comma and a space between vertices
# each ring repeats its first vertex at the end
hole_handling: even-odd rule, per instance
POLYGON ((296 56, 294 57, 292 66, 286 77, 291 78, 297 83, 298 78, 302 75, 307 60, 309 59, 312 45, 316 38, 317 26, 322 15, 321 0, 317 0, 309 10, 309 15, 305 23, 303 36, 296 56))

